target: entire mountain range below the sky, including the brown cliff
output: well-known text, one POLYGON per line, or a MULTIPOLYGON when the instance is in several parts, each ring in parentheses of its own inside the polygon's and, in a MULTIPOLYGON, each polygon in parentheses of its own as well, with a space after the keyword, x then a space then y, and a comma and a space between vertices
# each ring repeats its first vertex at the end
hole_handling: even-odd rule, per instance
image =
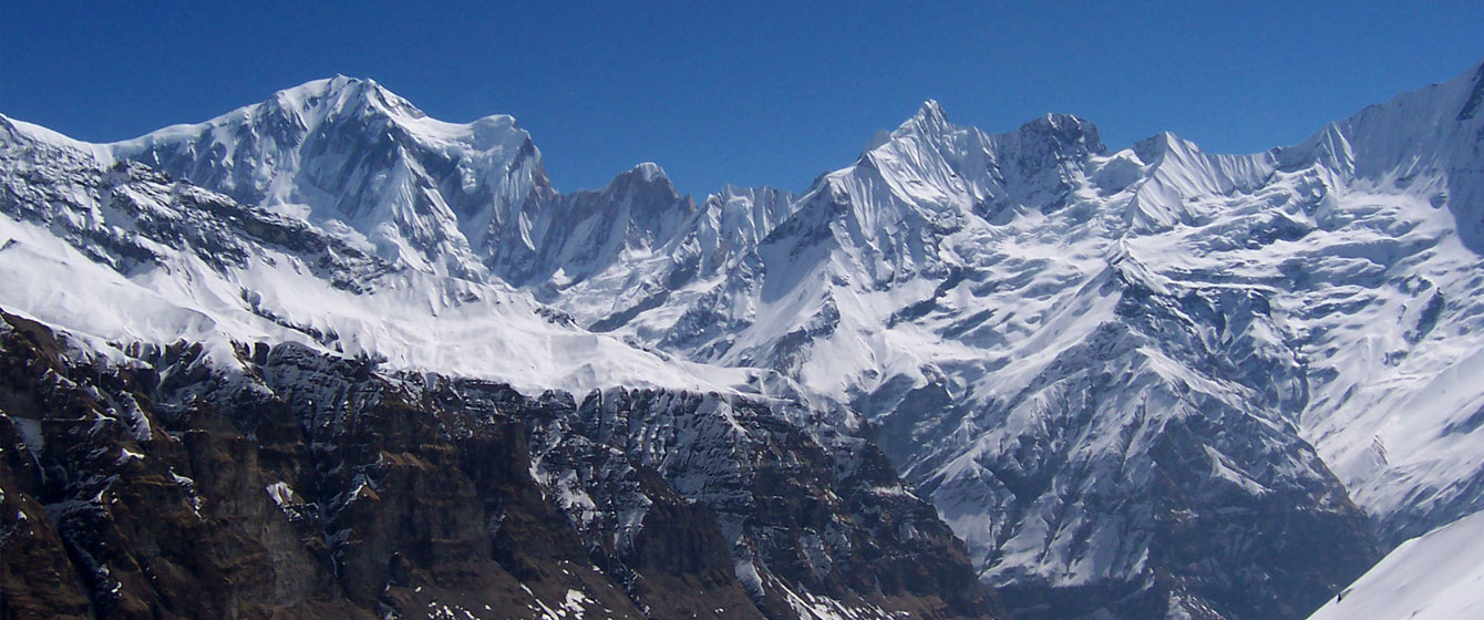
POLYGON ((6 613, 1306 617, 1484 507, 1481 108, 699 200, 341 76, 0 117, 6 613))

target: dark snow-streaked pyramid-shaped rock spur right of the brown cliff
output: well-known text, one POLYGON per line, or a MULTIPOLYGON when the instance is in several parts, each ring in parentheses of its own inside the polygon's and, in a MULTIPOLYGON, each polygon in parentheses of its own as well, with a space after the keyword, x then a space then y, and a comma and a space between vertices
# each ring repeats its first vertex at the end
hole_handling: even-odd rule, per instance
POLYGON ((954 414, 884 418, 930 446, 902 457, 910 475, 991 549, 984 576, 1018 616, 1301 617, 1374 562, 1368 519, 1291 421, 1307 399, 1294 352, 1252 341, 1272 334, 1263 297, 1131 271, 1095 288, 1116 320, 1017 393, 963 406, 920 389, 901 400, 954 414), (982 430, 965 445, 963 429, 982 430))

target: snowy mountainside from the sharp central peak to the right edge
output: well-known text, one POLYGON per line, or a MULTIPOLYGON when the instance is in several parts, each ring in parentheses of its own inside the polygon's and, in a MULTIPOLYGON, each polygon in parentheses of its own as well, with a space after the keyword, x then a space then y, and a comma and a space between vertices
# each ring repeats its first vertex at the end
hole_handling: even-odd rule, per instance
MULTIPOLYGON (((1346 491, 1392 540, 1480 506, 1481 393, 1463 377, 1481 344, 1481 89, 1474 68, 1252 156, 1168 133, 1107 153, 1063 116, 991 136, 929 102, 712 277, 706 304, 741 320, 662 301, 614 329, 852 402, 996 584, 1088 599, 1070 592, 1171 583, 1150 558, 1187 512, 1294 492, 1331 506, 1316 527, 1347 524, 1309 553, 1346 559, 1285 565, 1303 553, 1282 543, 1247 561, 1333 571, 1307 586, 1316 604, 1376 553, 1346 491), (1156 458, 1201 418, 1220 423, 1156 458), (1152 481, 1202 461, 1155 500, 1152 481)), ((611 326, 583 297, 554 303, 611 326)), ((1160 562, 1186 574, 1217 553, 1160 562)))

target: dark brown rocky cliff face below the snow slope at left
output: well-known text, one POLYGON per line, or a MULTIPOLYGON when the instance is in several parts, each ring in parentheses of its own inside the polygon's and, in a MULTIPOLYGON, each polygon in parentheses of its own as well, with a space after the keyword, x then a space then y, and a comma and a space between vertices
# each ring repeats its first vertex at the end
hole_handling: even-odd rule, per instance
POLYGON ((104 360, 0 322, 4 617, 988 617, 862 439, 736 396, 104 360))

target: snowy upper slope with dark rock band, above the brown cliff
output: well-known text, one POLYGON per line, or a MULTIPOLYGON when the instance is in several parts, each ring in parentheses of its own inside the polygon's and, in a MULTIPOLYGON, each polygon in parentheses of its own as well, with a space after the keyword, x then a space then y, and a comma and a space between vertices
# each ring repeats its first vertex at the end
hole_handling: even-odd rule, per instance
POLYGON ((0 123, 7 311, 101 341, 184 338, 223 359, 233 340, 292 341, 537 393, 745 381, 586 332, 499 282, 398 267, 301 220, 0 123))

